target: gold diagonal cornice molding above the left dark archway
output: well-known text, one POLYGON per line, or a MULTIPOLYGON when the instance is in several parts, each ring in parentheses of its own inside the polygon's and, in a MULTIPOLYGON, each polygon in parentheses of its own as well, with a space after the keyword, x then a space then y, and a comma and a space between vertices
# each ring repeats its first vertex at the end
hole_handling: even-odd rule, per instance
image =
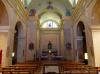
POLYGON ((20 0, 7 0, 7 3, 13 8, 17 16, 25 23, 29 16, 27 10, 25 10, 24 5, 21 3, 20 0))

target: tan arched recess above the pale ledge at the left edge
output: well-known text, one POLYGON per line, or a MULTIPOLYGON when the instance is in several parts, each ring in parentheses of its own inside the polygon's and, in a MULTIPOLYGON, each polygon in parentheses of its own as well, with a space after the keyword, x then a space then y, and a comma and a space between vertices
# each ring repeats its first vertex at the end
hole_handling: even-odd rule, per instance
POLYGON ((2 0, 0 0, 0 26, 9 25, 8 13, 2 0))

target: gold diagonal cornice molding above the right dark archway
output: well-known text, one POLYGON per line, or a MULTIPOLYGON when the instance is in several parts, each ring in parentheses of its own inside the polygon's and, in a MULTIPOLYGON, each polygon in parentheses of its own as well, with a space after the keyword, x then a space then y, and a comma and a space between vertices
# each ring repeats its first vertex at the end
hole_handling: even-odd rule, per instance
POLYGON ((83 12, 85 12, 85 9, 89 7, 90 4, 95 3, 96 0, 80 0, 80 2, 73 8, 73 15, 72 18, 74 20, 74 23, 78 21, 80 16, 83 12))

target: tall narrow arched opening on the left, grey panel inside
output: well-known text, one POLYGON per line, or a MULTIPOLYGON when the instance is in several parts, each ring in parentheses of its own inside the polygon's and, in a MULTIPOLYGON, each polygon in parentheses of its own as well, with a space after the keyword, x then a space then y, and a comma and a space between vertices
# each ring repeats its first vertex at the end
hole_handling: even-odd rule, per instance
POLYGON ((15 25, 15 32, 14 32, 12 64, 24 61, 23 50, 24 50, 24 30, 22 23, 18 21, 15 25))

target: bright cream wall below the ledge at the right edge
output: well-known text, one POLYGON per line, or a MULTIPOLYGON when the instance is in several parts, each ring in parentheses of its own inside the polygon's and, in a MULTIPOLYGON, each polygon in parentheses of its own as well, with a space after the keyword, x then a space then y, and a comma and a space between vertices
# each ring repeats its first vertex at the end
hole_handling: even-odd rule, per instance
POLYGON ((92 31, 95 66, 100 67, 100 30, 92 31))

